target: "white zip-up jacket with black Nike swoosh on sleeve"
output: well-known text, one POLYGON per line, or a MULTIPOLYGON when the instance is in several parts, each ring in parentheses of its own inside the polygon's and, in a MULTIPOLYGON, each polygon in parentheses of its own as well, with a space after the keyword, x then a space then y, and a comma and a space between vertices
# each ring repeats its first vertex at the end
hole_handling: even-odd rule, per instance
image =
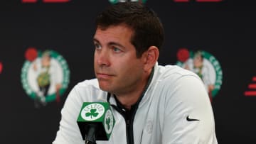
MULTIPOLYGON (((65 101, 53 144, 85 143, 77 124, 85 101, 117 104, 112 94, 99 88, 97 79, 80 82, 65 101)), ((112 111, 115 124, 110 140, 97 140, 97 144, 218 143, 213 110, 203 82, 181 67, 156 63, 149 86, 129 121, 129 131, 124 116, 114 106, 112 111)))

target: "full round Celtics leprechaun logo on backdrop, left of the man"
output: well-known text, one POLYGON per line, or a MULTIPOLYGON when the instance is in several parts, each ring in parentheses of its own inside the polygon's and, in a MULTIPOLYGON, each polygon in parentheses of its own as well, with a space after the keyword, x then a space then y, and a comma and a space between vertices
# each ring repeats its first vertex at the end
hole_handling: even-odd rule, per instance
POLYGON ((60 101, 68 88, 70 70, 65 59, 53 50, 28 48, 21 70, 21 83, 26 94, 34 99, 35 106, 46 106, 60 101))

